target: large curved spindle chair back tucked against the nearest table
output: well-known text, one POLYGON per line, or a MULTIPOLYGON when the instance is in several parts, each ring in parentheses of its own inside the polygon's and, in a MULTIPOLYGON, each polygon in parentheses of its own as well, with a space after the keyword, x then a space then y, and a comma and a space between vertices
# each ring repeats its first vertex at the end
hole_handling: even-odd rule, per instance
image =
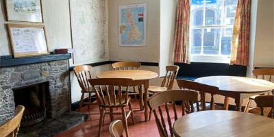
MULTIPOLYGON (((182 116, 185 114, 184 112, 184 102, 188 101, 190 103, 196 102, 197 111, 199 111, 199 103, 198 103, 198 93, 190 90, 167 90, 164 92, 159 92, 149 99, 149 108, 153 111, 155 116, 155 121, 158 127, 158 131, 161 137, 167 137, 169 134, 173 135, 173 123, 171 122, 171 114, 174 113, 175 121, 177 120, 177 108, 175 101, 182 101, 182 116), (171 108, 167 103, 172 102, 173 113, 169 112, 171 108), (167 116, 167 124, 169 125, 169 133, 168 129, 166 129, 166 121, 164 121, 164 114, 162 111, 164 108, 167 116), (160 117, 158 116, 158 112, 160 117)), ((194 108, 192 108, 192 112, 194 112, 194 108)))

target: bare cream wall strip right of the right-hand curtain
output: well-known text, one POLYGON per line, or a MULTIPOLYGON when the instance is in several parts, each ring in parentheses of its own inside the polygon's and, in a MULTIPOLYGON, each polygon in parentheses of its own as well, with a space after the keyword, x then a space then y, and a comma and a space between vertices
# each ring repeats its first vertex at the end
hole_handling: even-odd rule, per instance
POLYGON ((254 67, 274 66, 274 1, 258 0, 254 67))

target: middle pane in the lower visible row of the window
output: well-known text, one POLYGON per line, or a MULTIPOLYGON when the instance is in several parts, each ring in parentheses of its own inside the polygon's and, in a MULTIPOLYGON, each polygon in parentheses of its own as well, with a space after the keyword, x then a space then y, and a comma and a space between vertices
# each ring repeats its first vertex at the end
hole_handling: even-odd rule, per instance
POLYGON ((219 55, 219 28, 207 28, 203 32, 203 54, 206 55, 219 55))

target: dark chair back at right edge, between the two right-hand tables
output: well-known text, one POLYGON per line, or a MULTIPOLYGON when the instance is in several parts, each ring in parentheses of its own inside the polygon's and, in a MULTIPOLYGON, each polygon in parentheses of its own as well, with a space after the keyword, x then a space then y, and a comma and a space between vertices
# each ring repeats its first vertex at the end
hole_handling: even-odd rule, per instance
POLYGON ((262 95, 255 98, 257 106, 260 108, 260 114, 264 116, 264 108, 269 107, 271 111, 268 114, 268 117, 274 118, 274 95, 262 95))

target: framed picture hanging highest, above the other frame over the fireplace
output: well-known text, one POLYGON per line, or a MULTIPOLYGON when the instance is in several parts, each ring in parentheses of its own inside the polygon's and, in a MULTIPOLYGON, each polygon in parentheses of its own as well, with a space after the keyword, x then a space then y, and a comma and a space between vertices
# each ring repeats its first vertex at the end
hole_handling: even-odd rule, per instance
POLYGON ((8 21, 42 23, 41 0, 5 0, 8 21))

